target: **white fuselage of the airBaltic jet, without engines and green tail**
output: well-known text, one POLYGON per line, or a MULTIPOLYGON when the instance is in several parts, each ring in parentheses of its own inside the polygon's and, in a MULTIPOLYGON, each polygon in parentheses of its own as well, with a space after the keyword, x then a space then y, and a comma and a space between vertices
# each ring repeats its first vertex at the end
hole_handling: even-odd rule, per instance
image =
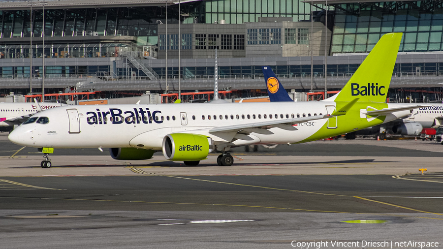
MULTIPOLYGON (((232 146, 297 143, 315 134, 328 120, 301 123, 295 126, 297 130, 272 127, 268 134, 251 132, 248 138, 236 132, 209 133, 209 130, 298 116, 321 116, 327 114, 326 106, 332 105, 335 106, 335 102, 63 106, 34 115, 47 117, 49 123, 22 124, 12 131, 9 139, 16 144, 37 148, 135 147, 160 150, 165 135, 189 132, 208 135, 219 144, 232 141, 232 146), (234 136, 239 137, 232 140, 234 136)), ((389 107, 392 106, 396 104, 389 104, 389 107)), ((408 114, 410 111, 389 114, 384 122, 408 114)), ((360 123, 364 124, 365 120, 362 118, 360 123)), ((340 120, 337 125, 340 126, 340 120)), ((324 137, 333 133, 334 129, 328 129, 324 137)))

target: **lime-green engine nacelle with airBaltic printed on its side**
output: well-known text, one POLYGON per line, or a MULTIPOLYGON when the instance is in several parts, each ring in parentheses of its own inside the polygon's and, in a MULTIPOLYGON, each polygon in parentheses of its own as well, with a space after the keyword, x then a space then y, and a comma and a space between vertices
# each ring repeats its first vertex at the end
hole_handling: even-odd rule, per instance
POLYGON ((199 161, 213 151, 210 137, 199 134, 172 133, 163 138, 163 156, 171 161, 199 161))

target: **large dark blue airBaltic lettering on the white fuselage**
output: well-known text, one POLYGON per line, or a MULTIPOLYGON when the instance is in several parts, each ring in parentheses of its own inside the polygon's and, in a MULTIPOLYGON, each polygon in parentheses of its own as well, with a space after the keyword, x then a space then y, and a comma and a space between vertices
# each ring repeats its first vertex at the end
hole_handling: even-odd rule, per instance
POLYGON ((133 111, 122 111, 118 108, 109 108, 109 111, 87 112, 87 122, 89 125, 106 125, 108 122, 113 125, 117 124, 161 124, 163 121, 156 117, 161 111, 151 111, 149 108, 133 108, 133 111))

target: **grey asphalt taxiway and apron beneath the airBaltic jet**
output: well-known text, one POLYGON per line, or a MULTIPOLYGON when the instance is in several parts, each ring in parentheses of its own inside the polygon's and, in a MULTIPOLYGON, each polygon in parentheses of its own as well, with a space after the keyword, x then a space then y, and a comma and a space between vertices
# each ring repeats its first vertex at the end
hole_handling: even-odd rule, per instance
POLYGON ((0 135, 0 249, 443 247, 443 146, 433 142, 237 149, 232 167, 59 150, 51 169, 14 146, 0 135))

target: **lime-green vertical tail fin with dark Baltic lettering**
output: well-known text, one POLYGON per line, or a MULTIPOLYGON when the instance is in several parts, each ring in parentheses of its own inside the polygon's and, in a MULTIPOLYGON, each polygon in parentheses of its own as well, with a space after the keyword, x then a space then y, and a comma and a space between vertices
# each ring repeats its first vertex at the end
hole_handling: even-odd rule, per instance
POLYGON ((402 33, 381 36, 335 101, 385 102, 401 39, 402 33))

